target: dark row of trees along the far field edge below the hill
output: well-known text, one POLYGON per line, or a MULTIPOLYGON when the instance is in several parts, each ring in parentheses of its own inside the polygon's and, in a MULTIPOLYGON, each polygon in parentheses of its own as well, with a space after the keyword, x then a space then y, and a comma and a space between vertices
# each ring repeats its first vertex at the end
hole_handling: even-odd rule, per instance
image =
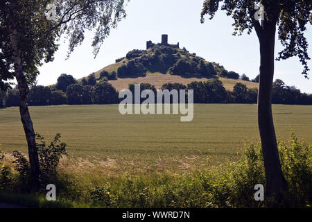
MULTIPOLYGON (((100 78, 94 74, 77 81, 73 76, 62 74, 57 83, 51 86, 35 85, 28 95, 28 105, 87 105, 87 104, 116 104, 121 101, 119 93, 108 83, 116 78, 116 73, 103 71, 100 78)), ((141 83, 141 91, 151 89, 156 92, 155 86, 141 83)), ((134 95, 135 85, 129 85, 134 95)), ((166 83, 161 89, 193 89, 194 103, 257 103, 257 88, 248 89, 243 83, 236 83, 233 91, 228 91, 217 78, 194 81, 188 85, 180 83, 166 83)), ((156 101, 156 99, 155 99, 156 101)), ((312 94, 301 93, 300 89, 286 85, 282 80, 275 80, 272 89, 272 103, 312 105, 312 94)), ((19 91, 17 88, 0 92, 0 107, 19 105, 19 91)))

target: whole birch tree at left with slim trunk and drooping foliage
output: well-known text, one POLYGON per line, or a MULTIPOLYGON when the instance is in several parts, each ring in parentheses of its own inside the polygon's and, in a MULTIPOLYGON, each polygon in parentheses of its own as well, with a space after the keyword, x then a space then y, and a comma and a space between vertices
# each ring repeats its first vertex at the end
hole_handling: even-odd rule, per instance
POLYGON ((125 17, 124 5, 123 0, 0 1, 0 86, 1 89, 8 88, 6 82, 13 78, 18 83, 19 111, 28 144, 34 189, 40 182, 40 165, 28 111, 28 85, 34 83, 42 60, 53 60, 63 34, 69 39, 69 56, 83 42, 85 29, 96 28, 92 42, 96 56, 111 28, 125 17), (46 15, 48 3, 53 3, 55 10, 46 15))

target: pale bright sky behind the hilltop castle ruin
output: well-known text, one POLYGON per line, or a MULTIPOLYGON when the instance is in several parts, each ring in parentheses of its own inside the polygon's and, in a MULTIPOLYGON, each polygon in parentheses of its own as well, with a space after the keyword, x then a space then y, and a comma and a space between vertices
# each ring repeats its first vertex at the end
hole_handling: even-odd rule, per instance
MULTIPOLYGON (((180 42, 191 53, 217 62, 228 71, 246 74, 250 79, 259 74, 259 40, 254 31, 250 35, 233 36, 233 20, 224 11, 216 13, 214 19, 200 23, 200 12, 204 0, 130 0, 125 10, 127 17, 105 40, 96 58, 92 53, 92 32, 87 32, 85 42, 66 59, 68 42, 60 41, 55 60, 40 67, 38 85, 56 83, 60 74, 82 78, 124 57, 132 49, 146 49, 146 41, 161 42, 162 34, 168 34, 168 43, 180 42)), ((312 42, 312 28, 305 33, 308 43, 312 42)), ((275 53, 282 46, 277 40, 275 53)), ((312 47, 308 49, 312 57, 312 47)), ((312 68, 312 62, 309 61, 312 68)), ((284 80, 286 85, 295 85, 302 92, 312 93, 312 79, 301 74, 303 67, 298 58, 275 62, 275 79, 284 80)), ((309 71, 312 78, 312 73, 309 71)))

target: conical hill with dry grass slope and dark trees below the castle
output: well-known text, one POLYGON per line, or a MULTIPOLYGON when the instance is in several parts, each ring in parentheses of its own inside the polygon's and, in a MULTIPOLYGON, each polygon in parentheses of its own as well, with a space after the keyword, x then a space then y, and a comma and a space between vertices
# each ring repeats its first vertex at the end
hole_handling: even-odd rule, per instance
MULTIPOLYGON (((205 81, 208 78, 219 78, 223 82, 225 89, 229 91, 232 91, 236 83, 243 83, 248 88, 258 87, 258 83, 226 76, 231 72, 227 71, 222 65, 216 62, 208 62, 196 56, 196 53, 189 53, 186 49, 172 48, 171 46, 155 45, 147 50, 130 51, 125 58, 116 60, 116 63, 96 71, 94 73, 96 78, 99 79, 103 71, 109 73, 112 73, 112 71, 116 72, 117 78, 115 80, 109 80, 109 83, 119 91, 121 89, 128 89, 130 83, 150 83, 159 89, 165 83, 182 83, 187 85, 193 81, 205 81), (182 70, 189 69, 190 73, 181 75, 179 73, 172 74, 173 67, 176 67, 179 61, 187 65, 187 67, 182 67, 182 70), (144 73, 120 76, 119 69, 121 67, 127 67, 131 62, 132 64, 139 64, 141 67, 144 67, 144 73), (200 65, 202 64, 205 66, 212 65, 214 69, 213 74, 205 74, 205 71, 204 73, 200 71, 200 65)), ((233 71, 232 73, 236 74, 233 71)), ((236 74, 236 76, 238 76, 238 74, 236 74)))

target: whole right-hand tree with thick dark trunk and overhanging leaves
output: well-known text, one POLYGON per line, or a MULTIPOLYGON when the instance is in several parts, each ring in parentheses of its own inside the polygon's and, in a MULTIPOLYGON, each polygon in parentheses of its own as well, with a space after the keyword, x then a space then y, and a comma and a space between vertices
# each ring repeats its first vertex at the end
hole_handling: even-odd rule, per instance
MULTIPOLYGON (((277 60, 297 56, 304 66, 305 77, 308 76, 308 43, 304 37, 306 24, 311 19, 311 1, 223 1, 205 0, 203 3, 201 22, 205 15, 212 19, 223 3, 221 10, 234 19, 234 35, 241 35, 247 29, 257 33, 260 44, 260 79, 258 94, 258 125, 266 171, 266 194, 281 198, 287 191, 287 182, 281 171, 277 139, 272 118, 272 81, 275 61, 275 33, 278 26, 279 40, 284 49, 277 60), (256 5, 261 2, 262 5, 256 5), (260 6, 260 7, 259 7, 260 6), (263 13, 262 13, 263 12, 263 13), (259 22, 261 15, 261 23, 259 22)), ((311 23, 311 20, 310 20, 311 23)))

